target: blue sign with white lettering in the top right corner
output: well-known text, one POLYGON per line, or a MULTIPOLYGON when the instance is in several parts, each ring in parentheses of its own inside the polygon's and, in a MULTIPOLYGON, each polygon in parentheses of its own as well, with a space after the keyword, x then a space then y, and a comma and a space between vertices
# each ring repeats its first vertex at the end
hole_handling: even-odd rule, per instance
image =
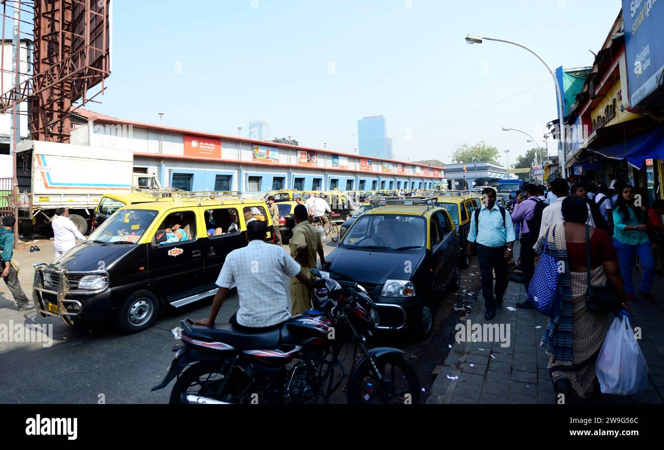
POLYGON ((622 4, 627 88, 629 104, 635 108, 657 90, 664 73, 664 0, 623 0, 622 4))

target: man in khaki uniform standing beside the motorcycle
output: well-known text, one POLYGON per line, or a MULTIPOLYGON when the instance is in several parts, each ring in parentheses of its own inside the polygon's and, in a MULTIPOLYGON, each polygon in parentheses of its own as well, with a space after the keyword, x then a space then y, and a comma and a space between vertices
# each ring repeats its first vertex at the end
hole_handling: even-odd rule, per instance
MULTIPOLYGON (((293 228, 293 237, 288 243, 290 254, 302 267, 302 273, 314 281, 315 277, 311 275, 310 269, 316 267, 316 253, 321 258, 321 265, 325 264, 321 235, 313 225, 309 224, 309 212, 306 206, 303 204, 295 206, 293 216, 295 228, 293 228)), ((305 309, 311 305, 309 288, 300 283, 298 279, 291 278, 290 291, 291 315, 303 314, 305 309)))

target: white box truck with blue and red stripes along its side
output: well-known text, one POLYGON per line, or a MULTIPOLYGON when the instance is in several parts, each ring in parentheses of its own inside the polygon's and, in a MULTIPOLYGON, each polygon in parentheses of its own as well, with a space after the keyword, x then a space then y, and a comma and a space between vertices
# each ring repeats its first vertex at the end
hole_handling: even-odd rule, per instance
POLYGON ((85 234, 104 192, 129 192, 132 185, 153 183, 153 177, 133 174, 133 153, 42 141, 23 141, 17 151, 19 227, 46 234, 57 208, 69 208, 69 218, 85 234), (147 180, 146 180, 147 179, 147 180))

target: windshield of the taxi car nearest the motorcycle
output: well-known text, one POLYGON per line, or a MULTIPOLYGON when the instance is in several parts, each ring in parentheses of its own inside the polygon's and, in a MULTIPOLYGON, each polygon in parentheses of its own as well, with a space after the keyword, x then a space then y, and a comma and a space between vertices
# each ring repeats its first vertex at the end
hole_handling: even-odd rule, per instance
POLYGON ((341 241, 341 247, 359 250, 400 250, 426 245, 426 220, 422 216, 365 214, 341 241))

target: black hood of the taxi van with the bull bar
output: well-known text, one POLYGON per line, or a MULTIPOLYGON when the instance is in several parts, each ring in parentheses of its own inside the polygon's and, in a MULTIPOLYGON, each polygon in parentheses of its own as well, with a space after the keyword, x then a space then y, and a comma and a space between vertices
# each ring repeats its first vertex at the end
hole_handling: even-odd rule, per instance
POLYGON ((135 244, 78 244, 64 255, 50 263, 52 269, 67 269, 68 271, 99 270, 100 261, 106 269, 118 262, 125 254, 140 247, 135 244))

